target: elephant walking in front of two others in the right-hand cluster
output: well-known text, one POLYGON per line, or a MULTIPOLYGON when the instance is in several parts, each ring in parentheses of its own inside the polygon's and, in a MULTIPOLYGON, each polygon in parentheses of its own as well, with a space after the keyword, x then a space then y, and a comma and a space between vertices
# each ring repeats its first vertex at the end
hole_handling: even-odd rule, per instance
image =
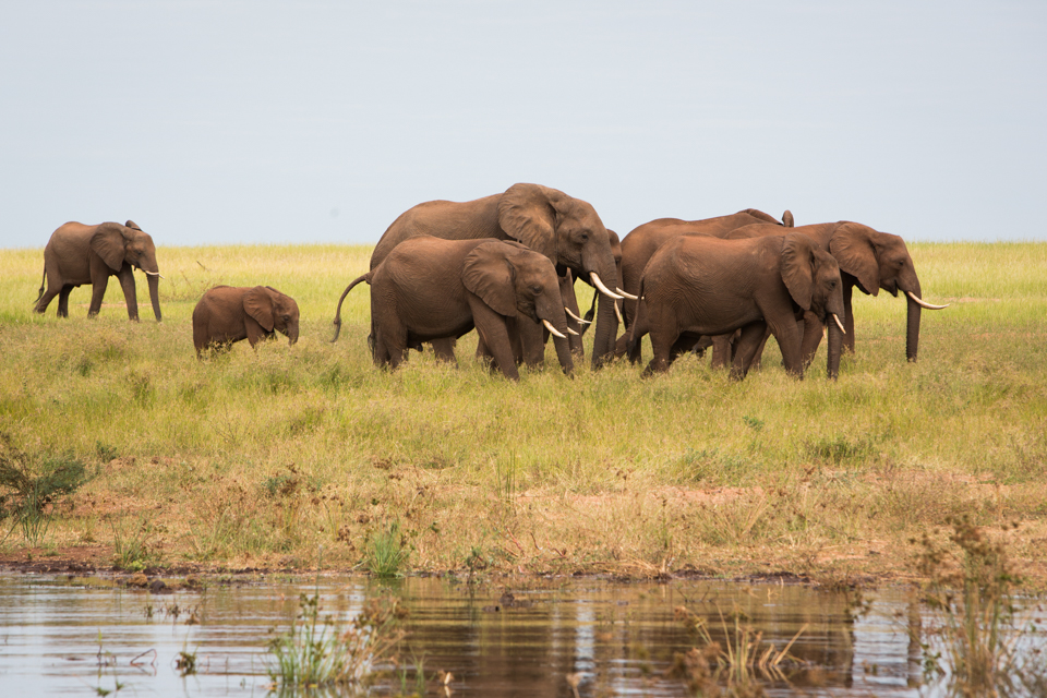
POLYGON ((749 240, 677 236, 643 270, 629 342, 650 333, 654 358, 645 371, 650 375, 666 371, 701 335, 741 329, 731 377, 742 380, 770 330, 785 370, 803 377, 802 335, 814 327, 801 329, 799 321, 805 313, 822 321, 832 315, 830 334, 843 332, 842 286, 837 261, 799 232, 749 240))

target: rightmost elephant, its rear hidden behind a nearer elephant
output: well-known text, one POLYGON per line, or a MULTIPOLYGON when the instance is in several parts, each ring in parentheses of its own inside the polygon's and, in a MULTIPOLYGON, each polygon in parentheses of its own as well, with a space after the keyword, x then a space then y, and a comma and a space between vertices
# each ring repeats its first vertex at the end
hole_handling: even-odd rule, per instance
MULTIPOLYGON (((843 279, 844 327, 846 333, 842 337, 843 348, 854 352, 854 314, 852 312, 852 296, 854 289, 866 294, 877 296, 880 289, 898 297, 905 294, 907 302, 907 321, 905 330, 905 358, 916 361, 919 349, 919 320, 920 310, 941 310, 948 305, 932 305, 923 300, 919 278, 916 276, 916 266, 908 254, 905 241, 899 236, 880 232, 869 226, 841 220, 839 222, 823 222, 810 226, 801 226, 794 229, 808 236, 828 250, 840 265, 843 279)), ((756 224, 731 231, 727 238, 758 238, 767 236, 780 237, 782 231, 774 226, 756 224)), ((805 356, 814 356, 821 341, 821 333, 807 333, 809 344, 805 344, 805 356)), ((830 356, 833 353, 830 335, 830 356)), ((839 372, 839 353, 835 353, 835 365, 830 362, 829 373, 835 376, 839 372)))

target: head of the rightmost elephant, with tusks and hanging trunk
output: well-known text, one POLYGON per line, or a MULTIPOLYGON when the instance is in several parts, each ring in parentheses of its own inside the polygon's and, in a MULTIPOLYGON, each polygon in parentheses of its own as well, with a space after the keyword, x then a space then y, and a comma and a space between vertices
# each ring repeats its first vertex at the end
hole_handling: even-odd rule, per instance
MULTIPOLYGON (((863 292, 877 296, 882 288, 894 297, 899 291, 905 294, 908 303, 905 357, 916 361, 920 309, 941 310, 946 305, 931 305, 923 300, 916 267, 905 241, 862 224, 843 221, 833 230, 829 251, 840 263, 840 270, 853 276, 863 292)), ((850 348, 854 349, 853 346, 850 348)))

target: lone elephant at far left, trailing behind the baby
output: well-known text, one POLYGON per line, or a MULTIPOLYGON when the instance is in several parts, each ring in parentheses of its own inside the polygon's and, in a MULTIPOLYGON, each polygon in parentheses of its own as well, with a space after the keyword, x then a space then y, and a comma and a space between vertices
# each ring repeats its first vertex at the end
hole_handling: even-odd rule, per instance
POLYGON ((153 238, 133 220, 121 226, 104 222, 85 226, 67 222, 51 233, 44 248, 44 280, 36 298, 34 310, 43 314, 51 299, 58 296, 58 316, 69 317, 69 293, 77 286, 92 285, 91 306, 87 316, 94 317, 101 310, 109 277, 120 279, 123 297, 128 303, 128 317, 137 322, 139 301, 134 288, 134 268, 145 272, 149 282, 149 299, 153 313, 160 322, 159 279, 156 264, 156 245, 153 238), (44 291, 45 282, 47 292, 44 291))

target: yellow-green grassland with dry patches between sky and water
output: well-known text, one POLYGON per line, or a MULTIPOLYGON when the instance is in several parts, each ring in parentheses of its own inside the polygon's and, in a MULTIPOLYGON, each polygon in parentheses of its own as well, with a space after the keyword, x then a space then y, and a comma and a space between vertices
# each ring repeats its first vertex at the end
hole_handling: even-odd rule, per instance
POLYGON ((43 541, 14 528, 0 559, 303 569, 323 545, 341 569, 901 580, 913 541, 966 515, 1045 585, 1047 244, 910 250, 927 300, 952 304, 924 312, 917 363, 905 303, 881 292, 856 297, 838 382, 825 346, 804 381, 769 346, 741 383, 694 358, 567 380, 550 353, 518 384, 474 361, 474 335, 457 369, 413 352, 374 369, 365 287, 330 344, 369 248, 160 248, 163 324, 141 278, 141 323, 116 282, 95 320, 87 287, 70 318, 35 315, 43 251, 0 251, 8 456, 93 476, 50 505, 43 541), (197 362, 190 316, 216 284, 296 298, 298 345, 197 362))

